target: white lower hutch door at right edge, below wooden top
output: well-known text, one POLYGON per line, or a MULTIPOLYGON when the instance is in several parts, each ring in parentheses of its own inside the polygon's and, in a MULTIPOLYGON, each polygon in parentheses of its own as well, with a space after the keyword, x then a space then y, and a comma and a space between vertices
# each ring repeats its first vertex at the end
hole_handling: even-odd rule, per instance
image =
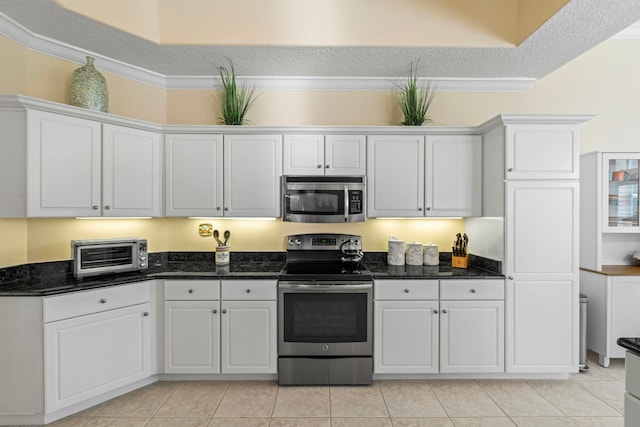
POLYGON ((640 277, 615 276, 611 278, 610 330, 607 331, 611 357, 624 357, 625 349, 616 341, 621 337, 640 336, 640 277))

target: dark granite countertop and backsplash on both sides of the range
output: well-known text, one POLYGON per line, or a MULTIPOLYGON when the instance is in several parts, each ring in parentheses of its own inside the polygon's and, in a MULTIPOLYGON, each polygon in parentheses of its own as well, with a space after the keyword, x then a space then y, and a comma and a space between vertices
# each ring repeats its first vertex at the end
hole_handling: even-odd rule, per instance
MULTIPOLYGON (((1 296, 48 296, 153 279, 278 279, 284 252, 234 252, 227 266, 216 266, 212 252, 150 254, 145 272, 85 279, 73 277, 71 261, 26 264, 0 269, 1 296)), ((441 253, 439 266, 389 266, 386 252, 366 253, 364 263, 374 279, 503 278, 500 263, 471 256, 470 267, 452 268, 450 254, 441 253), (447 259, 447 256, 449 258, 447 259)))

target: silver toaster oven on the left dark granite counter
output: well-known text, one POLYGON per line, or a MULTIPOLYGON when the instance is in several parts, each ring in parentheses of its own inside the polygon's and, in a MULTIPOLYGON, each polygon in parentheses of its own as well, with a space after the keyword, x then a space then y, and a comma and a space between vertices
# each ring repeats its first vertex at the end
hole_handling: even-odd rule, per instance
POLYGON ((72 240, 71 257, 77 278, 149 268, 147 241, 136 237, 72 240))

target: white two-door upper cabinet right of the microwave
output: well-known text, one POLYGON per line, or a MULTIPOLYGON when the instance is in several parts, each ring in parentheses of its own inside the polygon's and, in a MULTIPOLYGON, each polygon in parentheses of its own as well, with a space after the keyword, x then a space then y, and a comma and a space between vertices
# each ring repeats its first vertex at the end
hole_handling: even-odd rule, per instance
POLYGON ((367 144, 369 216, 481 215, 480 136, 376 135, 367 144))

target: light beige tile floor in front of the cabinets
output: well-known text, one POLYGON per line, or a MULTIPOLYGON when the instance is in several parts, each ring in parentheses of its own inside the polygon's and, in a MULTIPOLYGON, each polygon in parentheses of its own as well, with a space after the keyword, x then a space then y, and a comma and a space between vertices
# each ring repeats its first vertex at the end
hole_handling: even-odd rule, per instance
POLYGON ((623 426, 624 361, 568 380, 377 381, 369 387, 158 382, 55 427, 623 426))

